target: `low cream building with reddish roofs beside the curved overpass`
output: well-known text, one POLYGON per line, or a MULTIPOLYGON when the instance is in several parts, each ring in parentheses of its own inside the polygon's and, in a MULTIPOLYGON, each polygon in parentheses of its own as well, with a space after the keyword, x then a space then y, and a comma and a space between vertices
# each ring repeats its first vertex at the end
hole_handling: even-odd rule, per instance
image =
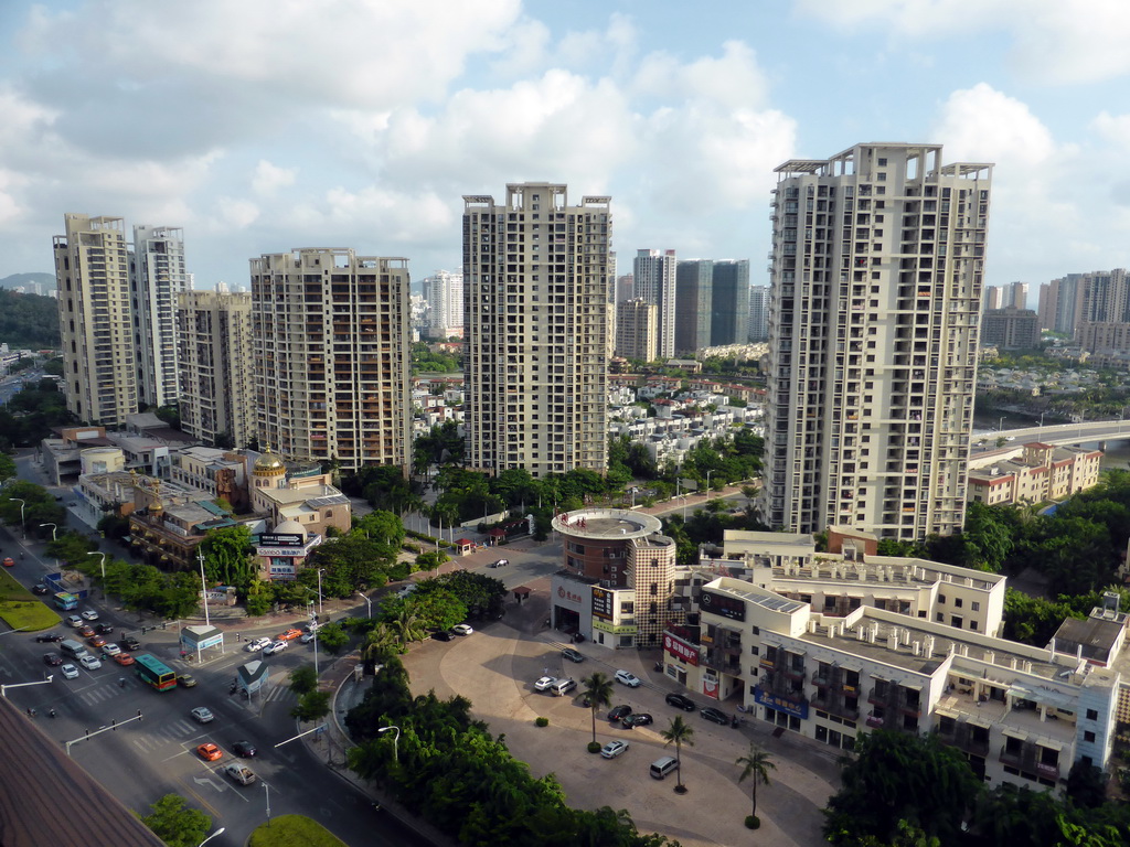
POLYGON ((1033 442, 1018 457, 970 471, 970 503, 1051 503, 1098 484, 1099 449, 1033 442))

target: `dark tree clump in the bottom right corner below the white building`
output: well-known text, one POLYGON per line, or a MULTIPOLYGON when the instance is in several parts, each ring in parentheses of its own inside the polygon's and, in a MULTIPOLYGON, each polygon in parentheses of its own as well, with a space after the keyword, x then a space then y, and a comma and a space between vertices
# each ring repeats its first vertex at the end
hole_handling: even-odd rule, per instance
POLYGON ((1067 796, 1002 784, 988 788, 964 754, 937 735, 861 733, 843 760, 824 833, 850 847, 1130 842, 1130 807, 1104 802, 1097 768, 1077 763, 1067 796))

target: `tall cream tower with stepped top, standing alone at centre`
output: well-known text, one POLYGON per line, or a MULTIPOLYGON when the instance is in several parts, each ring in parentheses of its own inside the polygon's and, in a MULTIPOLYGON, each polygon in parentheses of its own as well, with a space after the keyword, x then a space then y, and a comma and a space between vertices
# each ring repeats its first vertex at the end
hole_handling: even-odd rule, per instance
POLYGON ((609 198, 512 183, 463 202, 468 463, 603 472, 609 198))

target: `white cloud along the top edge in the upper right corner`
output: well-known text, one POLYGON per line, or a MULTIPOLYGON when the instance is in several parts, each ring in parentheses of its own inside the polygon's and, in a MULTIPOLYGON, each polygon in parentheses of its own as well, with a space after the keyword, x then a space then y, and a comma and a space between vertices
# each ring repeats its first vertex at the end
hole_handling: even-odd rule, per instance
POLYGON ((797 0, 797 8, 854 32, 889 29, 932 41, 1000 33, 1011 41, 1017 76, 1027 81, 1094 82, 1130 72, 1125 0, 797 0))

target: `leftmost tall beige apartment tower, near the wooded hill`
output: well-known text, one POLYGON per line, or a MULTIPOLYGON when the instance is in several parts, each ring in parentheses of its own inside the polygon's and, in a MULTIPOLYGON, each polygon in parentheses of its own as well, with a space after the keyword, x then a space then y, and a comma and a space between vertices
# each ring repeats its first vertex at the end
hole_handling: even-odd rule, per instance
POLYGON ((63 216, 54 237, 67 409, 116 427, 138 411, 130 255, 121 218, 63 216))

